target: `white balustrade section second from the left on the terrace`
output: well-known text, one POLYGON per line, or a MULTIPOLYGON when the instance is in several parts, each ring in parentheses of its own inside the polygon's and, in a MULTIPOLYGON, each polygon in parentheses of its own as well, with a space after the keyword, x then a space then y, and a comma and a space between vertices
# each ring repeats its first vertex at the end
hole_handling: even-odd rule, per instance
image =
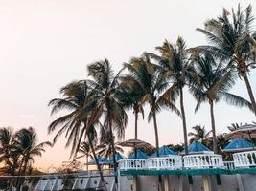
POLYGON ((182 158, 181 156, 168 156, 162 158, 151 158, 147 159, 148 169, 181 169, 182 168, 182 158))

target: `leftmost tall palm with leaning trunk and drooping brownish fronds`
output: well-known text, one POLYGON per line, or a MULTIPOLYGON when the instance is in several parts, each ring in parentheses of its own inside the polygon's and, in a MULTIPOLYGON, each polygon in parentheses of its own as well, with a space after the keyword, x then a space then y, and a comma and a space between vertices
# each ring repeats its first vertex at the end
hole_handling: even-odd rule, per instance
POLYGON ((71 156, 74 157, 76 157, 76 153, 80 148, 81 139, 88 138, 88 143, 93 158, 96 161, 101 181, 105 185, 102 169, 93 146, 93 141, 97 138, 94 128, 99 123, 99 114, 101 113, 101 108, 96 106, 96 101, 93 98, 94 91, 89 89, 86 81, 76 81, 61 88, 60 93, 63 95, 63 98, 55 98, 49 102, 49 105, 53 106, 52 114, 63 109, 69 112, 54 120, 49 125, 48 131, 51 133, 57 127, 60 127, 54 138, 54 143, 62 133, 66 132, 65 137, 68 137, 66 147, 72 143, 71 156))

